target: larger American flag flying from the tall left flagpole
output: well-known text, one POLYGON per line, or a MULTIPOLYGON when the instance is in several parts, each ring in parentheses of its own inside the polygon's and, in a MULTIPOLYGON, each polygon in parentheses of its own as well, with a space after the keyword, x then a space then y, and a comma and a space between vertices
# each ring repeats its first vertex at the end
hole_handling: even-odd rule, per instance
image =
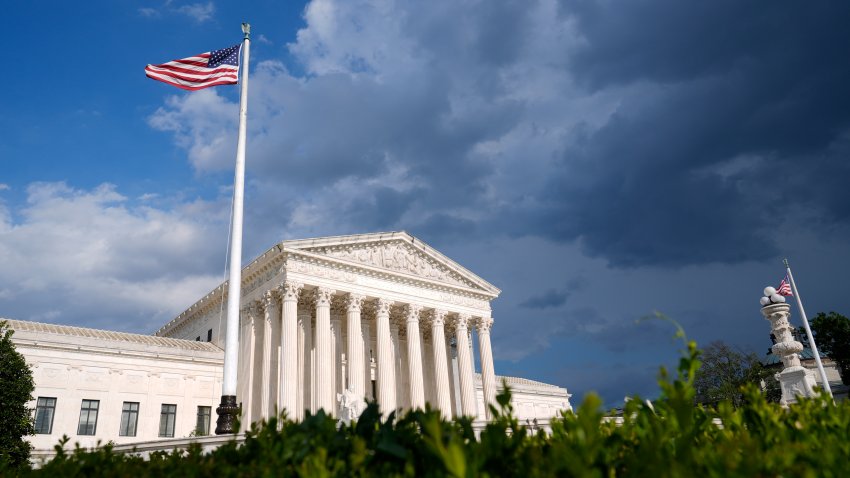
POLYGON ((235 85, 239 80, 241 47, 239 44, 162 65, 148 65, 145 67, 145 75, 190 91, 216 85, 235 85))

